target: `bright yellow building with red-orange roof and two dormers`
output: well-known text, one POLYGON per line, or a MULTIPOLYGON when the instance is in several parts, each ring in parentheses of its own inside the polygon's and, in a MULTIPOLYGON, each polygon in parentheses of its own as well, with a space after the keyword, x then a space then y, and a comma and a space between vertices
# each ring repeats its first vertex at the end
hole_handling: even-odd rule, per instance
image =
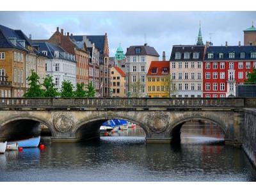
POLYGON ((170 97, 169 61, 151 61, 146 86, 148 97, 170 97))

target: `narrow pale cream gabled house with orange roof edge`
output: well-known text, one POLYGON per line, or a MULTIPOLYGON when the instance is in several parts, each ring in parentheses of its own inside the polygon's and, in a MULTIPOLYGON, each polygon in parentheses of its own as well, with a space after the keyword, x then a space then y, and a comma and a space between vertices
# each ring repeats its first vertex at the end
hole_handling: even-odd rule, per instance
POLYGON ((116 66, 110 68, 110 90, 113 97, 126 97, 125 73, 116 66))

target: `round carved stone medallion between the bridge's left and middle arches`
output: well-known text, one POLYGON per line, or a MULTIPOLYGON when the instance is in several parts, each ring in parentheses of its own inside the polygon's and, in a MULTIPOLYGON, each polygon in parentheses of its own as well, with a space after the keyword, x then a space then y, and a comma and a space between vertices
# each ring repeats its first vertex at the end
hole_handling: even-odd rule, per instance
POLYGON ((54 113, 52 122, 54 127, 60 132, 70 131, 75 124, 74 116, 65 112, 54 113))

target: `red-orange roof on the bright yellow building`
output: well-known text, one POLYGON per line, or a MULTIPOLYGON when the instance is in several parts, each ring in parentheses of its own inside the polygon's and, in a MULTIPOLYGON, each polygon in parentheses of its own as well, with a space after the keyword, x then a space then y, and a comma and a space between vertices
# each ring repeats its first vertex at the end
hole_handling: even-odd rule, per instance
POLYGON ((151 61, 147 76, 166 76, 168 74, 170 74, 170 61, 151 61), (152 73, 153 68, 156 68, 156 73, 152 73), (168 72, 163 72, 164 68, 167 68, 168 72))

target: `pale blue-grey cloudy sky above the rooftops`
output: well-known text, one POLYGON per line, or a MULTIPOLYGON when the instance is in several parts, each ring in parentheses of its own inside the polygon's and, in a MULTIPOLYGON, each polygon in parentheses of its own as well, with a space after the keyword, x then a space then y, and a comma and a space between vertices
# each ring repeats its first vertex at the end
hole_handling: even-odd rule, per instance
POLYGON ((0 24, 21 29, 33 39, 49 38, 56 27, 76 35, 108 33, 109 52, 119 44, 145 42, 170 56, 172 45, 195 44, 201 21, 204 42, 243 44, 243 30, 256 25, 256 12, 0 12, 0 24))

